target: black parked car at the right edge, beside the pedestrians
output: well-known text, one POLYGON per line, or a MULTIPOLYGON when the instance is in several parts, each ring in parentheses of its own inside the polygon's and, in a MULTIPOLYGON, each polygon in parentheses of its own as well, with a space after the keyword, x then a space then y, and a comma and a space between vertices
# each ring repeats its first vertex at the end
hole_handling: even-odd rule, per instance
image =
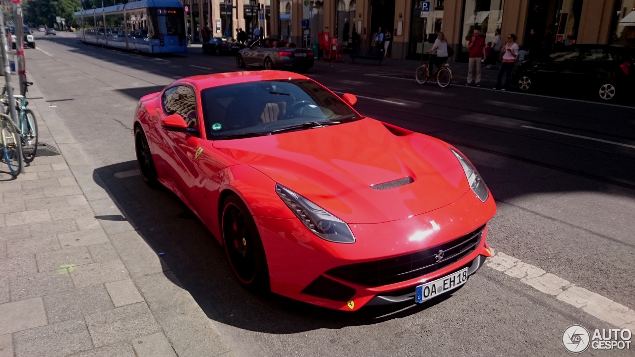
POLYGON ((613 101, 635 88, 635 49, 602 44, 573 44, 516 69, 520 91, 565 90, 613 101))

